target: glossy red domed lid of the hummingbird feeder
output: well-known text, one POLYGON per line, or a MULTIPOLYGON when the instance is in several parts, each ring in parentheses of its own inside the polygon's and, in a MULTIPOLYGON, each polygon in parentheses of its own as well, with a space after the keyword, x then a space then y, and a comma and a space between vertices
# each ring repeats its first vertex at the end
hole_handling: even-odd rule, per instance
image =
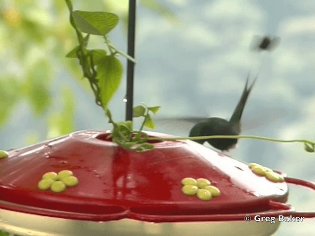
POLYGON ((293 210, 271 204, 286 202, 285 182, 257 176, 247 164, 197 143, 155 142, 154 150, 137 153, 104 141, 105 136, 81 131, 9 151, 0 160, 0 208, 84 220, 155 222, 220 220, 217 214, 232 220, 244 213, 293 210), (58 194, 37 189, 44 173, 62 170, 72 171, 79 184, 58 194), (184 177, 209 179, 221 196, 201 201, 184 195, 184 177))

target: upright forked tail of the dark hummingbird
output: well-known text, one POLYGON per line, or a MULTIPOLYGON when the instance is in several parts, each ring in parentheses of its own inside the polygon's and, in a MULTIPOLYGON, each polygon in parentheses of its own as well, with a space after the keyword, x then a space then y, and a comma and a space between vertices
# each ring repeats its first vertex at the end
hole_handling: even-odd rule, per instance
POLYGON ((229 120, 229 122, 233 125, 235 131, 239 134, 241 132, 241 117, 243 114, 243 110, 247 101, 248 96, 250 95, 250 92, 252 90, 252 87, 254 85, 254 83, 256 82, 256 79, 258 77, 258 74, 256 75, 256 77, 254 78, 252 85, 248 88, 248 80, 250 78, 250 73, 248 73, 247 76, 247 80, 246 80, 246 84, 244 87, 244 90, 242 92, 241 98, 239 100, 239 102, 237 103, 234 112, 229 120))

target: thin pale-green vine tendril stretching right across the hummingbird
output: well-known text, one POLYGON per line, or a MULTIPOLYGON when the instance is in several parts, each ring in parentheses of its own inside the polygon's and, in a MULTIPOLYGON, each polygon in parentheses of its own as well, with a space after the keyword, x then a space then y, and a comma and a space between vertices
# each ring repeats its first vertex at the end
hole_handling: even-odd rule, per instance
POLYGON ((315 145, 315 142, 312 142, 307 139, 293 139, 293 140, 284 140, 284 139, 274 139, 253 135, 212 135, 212 136, 198 136, 198 137, 171 137, 171 138, 161 138, 161 137, 149 137, 148 140, 156 140, 156 141, 172 141, 172 140, 202 140, 202 139, 258 139, 264 141, 271 142, 279 142, 279 143, 308 143, 311 145, 315 145))

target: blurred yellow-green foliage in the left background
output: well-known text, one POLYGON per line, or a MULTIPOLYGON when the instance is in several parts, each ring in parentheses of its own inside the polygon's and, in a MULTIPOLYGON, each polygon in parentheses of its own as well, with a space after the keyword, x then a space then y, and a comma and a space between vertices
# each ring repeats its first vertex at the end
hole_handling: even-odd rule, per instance
MULTIPOLYGON (((75 9, 104 9, 117 14, 126 29, 128 0, 73 0, 75 9)), ((141 0, 143 6, 167 17, 174 15, 158 0, 141 0)), ((77 60, 65 55, 77 45, 69 23, 65 1, 2 0, 0 5, 0 128, 13 115, 14 109, 26 101, 34 118, 46 120, 47 138, 75 129, 75 94, 71 87, 53 88, 57 73, 65 70, 82 89, 91 95, 89 83, 82 80, 77 60), (53 90, 58 90, 53 95, 53 90), (62 98, 62 99, 56 99, 62 98), (60 108, 61 109, 55 109, 60 108)), ((91 99, 93 97, 91 96, 91 99)), ((23 103, 23 104, 24 104, 23 103)), ((38 133, 26 137, 37 142, 38 133)))

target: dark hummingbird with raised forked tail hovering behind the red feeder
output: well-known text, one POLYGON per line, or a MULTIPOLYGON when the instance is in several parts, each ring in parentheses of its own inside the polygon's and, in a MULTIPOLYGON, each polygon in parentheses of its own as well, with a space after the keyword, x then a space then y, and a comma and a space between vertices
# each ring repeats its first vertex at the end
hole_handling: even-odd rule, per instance
MULTIPOLYGON (((195 136, 211 136, 211 135, 239 135, 241 132, 241 117, 247 101, 251 93, 252 87, 256 82, 258 75, 254 78, 251 86, 249 83, 250 73, 248 74, 244 90, 241 98, 237 103, 234 112, 229 121, 223 118, 211 117, 196 123, 189 132, 189 137, 195 136)), ((202 139, 194 140, 199 144, 208 142, 212 147, 221 151, 228 151, 237 144, 237 139, 202 139)))

